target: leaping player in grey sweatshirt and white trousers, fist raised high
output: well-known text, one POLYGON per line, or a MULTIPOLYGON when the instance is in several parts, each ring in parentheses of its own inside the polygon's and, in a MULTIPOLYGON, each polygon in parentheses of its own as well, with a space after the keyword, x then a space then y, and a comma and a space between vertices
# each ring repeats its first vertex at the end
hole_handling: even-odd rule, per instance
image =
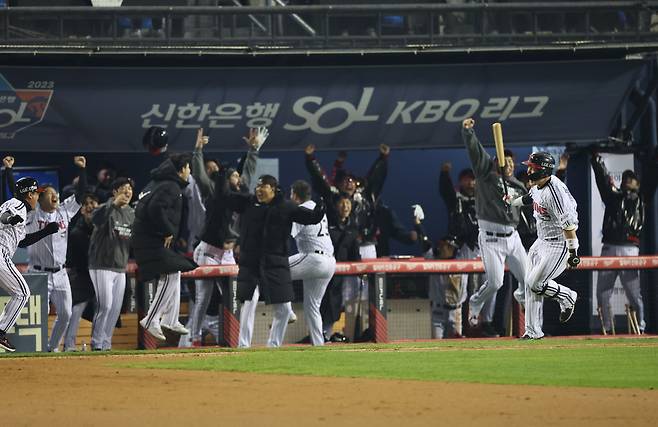
MULTIPOLYGON (((462 123, 462 139, 466 144, 468 156, 471 159, 473 172, 477 179, 475 187, 475 209, 478 218, 478 243, 484 263, 486 280, 469 300, 469 323, 476 326, 480 312, 490 300, 496 297, 496 292, 503 286, 505 260, 510 271, 519 282, 514 291, 514 298, 523 304, 524 283, 526 276, 527 254, 521 243, 516 227, 519 223, 519 206, 506 208, 500 199, 505 194, 503 182, 507 182, 508 194, 512 199, 526 194, 525 186, 514 177, 514 159, 507 150, 505 153, 504 177, 498 174, 491 156, 484 150, 475 136, 473 127, 475 120, 466 119, 462 123), (498 196, 498 197, 497 197, 498 196)), ((487 304, 490 310, 482 312, 482 328, 487 336, 495 336, 491 325, 494 304, 487 304)), ((526 314, 527 317, 527 314, 526 314)))

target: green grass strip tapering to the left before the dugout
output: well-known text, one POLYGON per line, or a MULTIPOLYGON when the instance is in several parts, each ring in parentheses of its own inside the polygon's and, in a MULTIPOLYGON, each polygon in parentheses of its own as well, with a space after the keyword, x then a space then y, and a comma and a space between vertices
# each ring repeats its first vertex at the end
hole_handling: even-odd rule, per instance
POLYGON ((658 387, 657 338, 446 340, 213 352, 216 357, 135 359, 121 366, 491 384, 658 387))

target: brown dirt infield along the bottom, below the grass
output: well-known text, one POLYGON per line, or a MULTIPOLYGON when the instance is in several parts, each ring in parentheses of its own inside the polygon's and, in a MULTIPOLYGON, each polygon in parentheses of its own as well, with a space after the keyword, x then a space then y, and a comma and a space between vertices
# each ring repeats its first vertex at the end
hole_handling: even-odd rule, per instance
MULTIPOLYGON (((0 358, 1 425, 658 425, 658 390, 314 378, 0 358)), ((175 357, 221 357, 185 354, 175 357)))

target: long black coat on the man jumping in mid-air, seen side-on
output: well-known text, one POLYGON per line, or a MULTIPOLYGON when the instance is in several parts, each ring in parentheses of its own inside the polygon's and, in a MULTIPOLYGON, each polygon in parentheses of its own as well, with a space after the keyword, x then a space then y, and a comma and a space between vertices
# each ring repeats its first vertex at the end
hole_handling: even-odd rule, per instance
POLYGON ((171 160, 165 160, 153 169, 151 178, 139 195, 131 238, 138 277, 142 281, 198 267, 182 254, 164 247, 167 236, 174 236, 175 242, 179 234, 183 189, 187 182, 178 176, 171 160))

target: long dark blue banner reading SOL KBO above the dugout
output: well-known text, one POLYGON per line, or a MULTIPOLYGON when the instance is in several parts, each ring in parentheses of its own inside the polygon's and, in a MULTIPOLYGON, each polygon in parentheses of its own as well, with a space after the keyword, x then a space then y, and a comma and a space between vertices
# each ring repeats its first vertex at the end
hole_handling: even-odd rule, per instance
POLYGON ((196 129, 209 151, 242 151, 267 126, 265 150, 460 146, 460 123, 502 122, 506 144, 607 138, 647 62, 579 61, 314 68, 0 67, 0 144, 12 151, 142 151, 165 126, 171 150, 196 129))

